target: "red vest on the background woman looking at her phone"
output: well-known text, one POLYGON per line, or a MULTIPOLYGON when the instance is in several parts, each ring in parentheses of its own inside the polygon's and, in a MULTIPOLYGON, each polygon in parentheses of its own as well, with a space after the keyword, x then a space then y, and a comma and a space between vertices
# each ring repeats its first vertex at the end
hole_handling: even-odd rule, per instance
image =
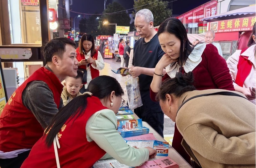
MULTIPOLYGON (((97 59, 98 59, 98 50, 96 50, 96 52, 95 52, 95 54, 93 54, 92 58, 93 58, 94 60, 97 60, 97 59)), ((76 49, 76 59, 77 59, 78 61, 81 61, 82 59, 85 59, 85 55, 79 53, 79 47, 76 49)), ((81 69, 86 70, 86 66, 85 66, 85 65, 81 65, 81 66, 79 66, 78 68, 81 68, 81 69)), ((95 68, 93 68, 93 67, 92 67, 92 64, 90 64, 90 68, 91 68, 92 79, 94 79, 94 78, 100 76, 100 71, 97 70, 97 69, 95 69, 95 68)), ((85 84, 85 83, 83 83, 83 84, 85 84)))

